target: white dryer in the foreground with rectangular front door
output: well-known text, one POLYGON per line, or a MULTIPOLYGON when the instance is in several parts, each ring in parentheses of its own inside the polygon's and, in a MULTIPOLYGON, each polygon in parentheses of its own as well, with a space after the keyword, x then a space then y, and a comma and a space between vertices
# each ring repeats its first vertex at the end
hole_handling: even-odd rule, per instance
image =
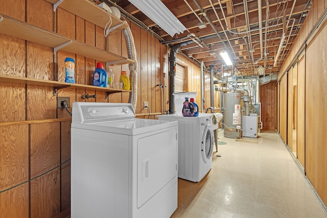
POLYGON ((170 217, 177 208, 177 122, 131 104, 74 102, 71 217, 170 217))

